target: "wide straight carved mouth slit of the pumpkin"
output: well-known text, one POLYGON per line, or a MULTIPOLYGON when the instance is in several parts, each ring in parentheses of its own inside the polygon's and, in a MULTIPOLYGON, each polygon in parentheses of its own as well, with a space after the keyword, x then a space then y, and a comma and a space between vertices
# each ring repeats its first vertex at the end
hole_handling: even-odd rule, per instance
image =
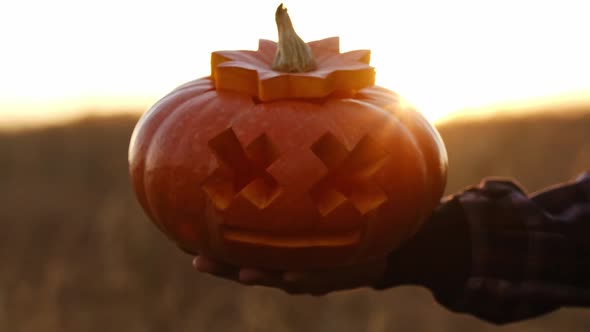
POLYGON ((330 231, 325 234, 309 232, 284 233, 250 230, 222 225, 222 237, 231 242, 268 246, 277 248, 343 247, 357 244, 362 237, 362 230, 330 231))

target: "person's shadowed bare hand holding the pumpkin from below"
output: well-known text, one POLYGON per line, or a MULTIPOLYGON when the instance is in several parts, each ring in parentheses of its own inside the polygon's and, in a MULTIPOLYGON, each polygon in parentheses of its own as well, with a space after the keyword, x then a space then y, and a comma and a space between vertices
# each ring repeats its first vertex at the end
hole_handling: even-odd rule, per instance
POLYGON ((289 294, 325 295, 330 292, 373 286, 384 277, 386 258, 326 270, 273 271, 238 267, 205 255, 196 256, 197 271, 245 285, 281 289, 289 294))

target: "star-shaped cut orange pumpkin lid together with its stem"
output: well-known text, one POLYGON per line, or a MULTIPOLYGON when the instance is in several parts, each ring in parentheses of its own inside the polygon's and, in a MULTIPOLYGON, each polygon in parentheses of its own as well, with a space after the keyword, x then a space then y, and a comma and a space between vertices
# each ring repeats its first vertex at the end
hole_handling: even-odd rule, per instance
POLYGON ((338 37, 304 43, 282 4, 277 8, 276 21, 278 43, 261 39, 257 51, 211 53, 216 89, 244 93, 265 102, 350 96, 375 84, 369 50, 340 53, 338 37))

